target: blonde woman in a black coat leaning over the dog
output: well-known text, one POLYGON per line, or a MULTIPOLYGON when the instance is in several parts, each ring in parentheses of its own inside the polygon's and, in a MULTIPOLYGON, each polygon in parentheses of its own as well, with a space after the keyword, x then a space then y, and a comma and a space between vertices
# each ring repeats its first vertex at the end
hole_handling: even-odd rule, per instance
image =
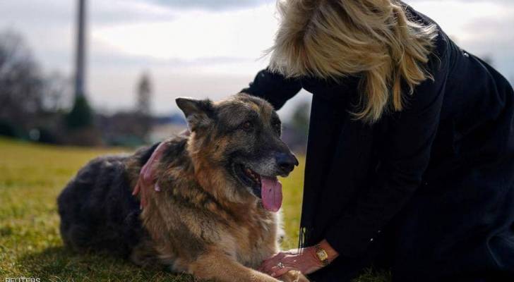
POLYGON ((280 11, 270 66, 243 92, 277 109, 313 94, 302 251, 261 270, 349 281, 373 263, 394 281, 514 281, 508 82, 401 1, 280 11))

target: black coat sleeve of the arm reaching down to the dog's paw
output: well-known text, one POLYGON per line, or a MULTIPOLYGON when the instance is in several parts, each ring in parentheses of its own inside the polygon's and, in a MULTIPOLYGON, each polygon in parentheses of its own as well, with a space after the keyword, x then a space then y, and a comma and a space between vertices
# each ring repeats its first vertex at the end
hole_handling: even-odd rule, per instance
POLYGON ((416 87, 408 108, 393 114, 387 133, 378 141, 382 143, 378 178, 358 198, 354 209, 343 212, 325 231, 325 239, 343 257, 363 255, 373 237, 421 185, 448 76, 448 59, 431 61, 437 66, 429 66, 434 80, 425 80, 416 87))

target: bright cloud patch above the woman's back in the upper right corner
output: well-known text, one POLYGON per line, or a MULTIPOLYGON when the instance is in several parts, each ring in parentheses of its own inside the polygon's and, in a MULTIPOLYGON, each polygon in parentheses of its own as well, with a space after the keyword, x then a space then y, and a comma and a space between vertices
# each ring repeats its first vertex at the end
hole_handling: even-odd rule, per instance
POLYGON ((494 67, 514 80, 514 1, 407 0, 436 20, 463 49, 488 56, 494 67))

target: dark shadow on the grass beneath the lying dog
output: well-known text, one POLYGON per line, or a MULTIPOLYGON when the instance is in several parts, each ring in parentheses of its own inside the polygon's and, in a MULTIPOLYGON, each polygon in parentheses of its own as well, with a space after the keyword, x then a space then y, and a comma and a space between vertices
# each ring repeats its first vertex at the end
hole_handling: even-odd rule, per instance
POLYGON ((173 274, 163 266, 143 269, 125 259, 92 252, 78 254, 66 247, 23 255, 17 264, 25 277, 42 281, 195 281, 192 276, 173 274))

